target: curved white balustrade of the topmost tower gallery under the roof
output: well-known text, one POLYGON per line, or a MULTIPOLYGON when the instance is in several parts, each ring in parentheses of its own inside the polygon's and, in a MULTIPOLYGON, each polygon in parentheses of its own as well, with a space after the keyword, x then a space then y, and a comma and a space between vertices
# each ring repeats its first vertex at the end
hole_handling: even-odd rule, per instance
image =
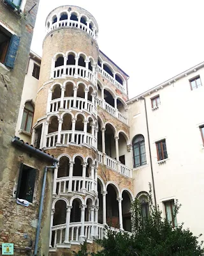
POLYGON ((81 22, 79 23, 76 20, 59 20, 59 21, 55 22, 54 24, 52 24, 50 26, 50 28, 47 29, 47 33, 52 31, 53 29, 62 28, 62 27, 80 28, 80 29, 84 30, 85 32, 87 32, 89 35, 91 35, 92 38, 96 39, 96 35, 94 35, 94 32, 89 27, 87 27, 85 24, 83 24, 81 22))

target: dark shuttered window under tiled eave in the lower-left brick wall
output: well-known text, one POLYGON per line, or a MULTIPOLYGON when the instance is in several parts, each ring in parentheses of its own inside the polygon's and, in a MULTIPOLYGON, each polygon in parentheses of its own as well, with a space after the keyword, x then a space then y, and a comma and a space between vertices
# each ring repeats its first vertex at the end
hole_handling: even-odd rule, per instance
POLYGON ((21 164, 18 177, 17 198, 33 202, 36 169, 21 164))

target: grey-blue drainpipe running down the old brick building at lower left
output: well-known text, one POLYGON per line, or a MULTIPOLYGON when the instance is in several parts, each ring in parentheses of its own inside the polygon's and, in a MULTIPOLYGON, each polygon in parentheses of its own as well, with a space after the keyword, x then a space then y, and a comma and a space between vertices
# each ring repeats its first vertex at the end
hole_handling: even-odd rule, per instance
POLYGON ((43 213, 43 200, 44 200, 44 196, 45 196, 47 170, 54 169, 55 167, 56 167, 56 163, 54 163, 54 166, 45 166, 45 170, 44 170, 43 187, 42 187, 42 192, 41 192, 40 209, 39 209, 39 215, 38 215, 38 226, 37 226, 37 231, 36 231, 36 241, 34 244, 34 256, 36 256, 38 253, 38 243, 39 243, 39 237, 40 237, 41 218, 42 218, 42 213, 43 213))

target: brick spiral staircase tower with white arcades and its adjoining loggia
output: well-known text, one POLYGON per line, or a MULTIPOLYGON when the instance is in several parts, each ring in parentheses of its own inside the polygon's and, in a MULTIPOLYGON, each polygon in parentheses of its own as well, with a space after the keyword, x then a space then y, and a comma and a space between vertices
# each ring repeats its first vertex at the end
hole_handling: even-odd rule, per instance
POLYGON ((83 8, 55 8, 45 26, 32 142, 59 159, 49 244, 55 253, 102 238, 108 221, 131 231, 133 180, 128 75, 99 51, 98 24, 83 8))

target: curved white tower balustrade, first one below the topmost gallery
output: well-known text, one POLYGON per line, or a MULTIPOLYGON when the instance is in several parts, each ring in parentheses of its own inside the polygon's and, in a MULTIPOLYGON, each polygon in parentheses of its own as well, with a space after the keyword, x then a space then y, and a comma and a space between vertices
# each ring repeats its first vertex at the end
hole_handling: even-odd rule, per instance
POLYGON ((76 67, 75 65, 66 65, 65 73, 64 66, 56 67, 53 69, 52 77, 66 77, 66 76, 79 76, 84 79, 89 79, 92 83, 95 83, 94 74, 91 70, 85 67, 76 67))

